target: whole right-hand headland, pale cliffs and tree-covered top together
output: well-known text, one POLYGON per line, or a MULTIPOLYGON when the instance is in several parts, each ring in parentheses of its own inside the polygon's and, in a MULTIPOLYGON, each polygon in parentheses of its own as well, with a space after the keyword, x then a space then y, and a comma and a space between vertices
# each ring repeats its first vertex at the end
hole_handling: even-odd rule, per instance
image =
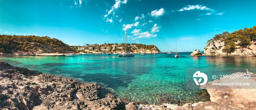
POLYGON ((256 26, 233 33, 223 32, 208 40, 205 55, 247 56, 256 54, 256 26))

